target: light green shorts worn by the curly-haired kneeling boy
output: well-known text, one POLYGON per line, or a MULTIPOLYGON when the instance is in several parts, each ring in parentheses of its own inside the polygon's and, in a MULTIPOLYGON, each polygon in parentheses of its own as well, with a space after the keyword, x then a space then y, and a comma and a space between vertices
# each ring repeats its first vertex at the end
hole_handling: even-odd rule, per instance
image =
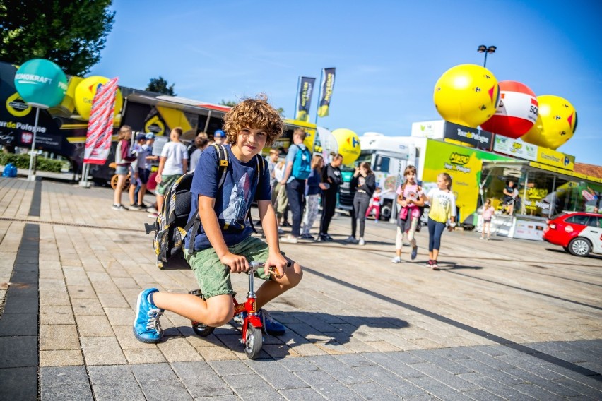
MULTIPOLYGON (((228 249, 235 255, 244 256, 249 262, 265 262, 270 253, 268 244, 256 237, 244 239, 239 244, 228 246, 228 249)), ((204 299, 216 295, 234 295, 236 293, 232 289, 230 269, 220 262, 220 258, 218 258, 218 254, 213 248, 193 253, 189 253, 188 249, 184 249, 184 258, 194 271, 194 276, 196 281, 199 282, 204 299)), ((270 280, 269 276, 266 277, 263 268, 257 269, 255 277, 270 280)))

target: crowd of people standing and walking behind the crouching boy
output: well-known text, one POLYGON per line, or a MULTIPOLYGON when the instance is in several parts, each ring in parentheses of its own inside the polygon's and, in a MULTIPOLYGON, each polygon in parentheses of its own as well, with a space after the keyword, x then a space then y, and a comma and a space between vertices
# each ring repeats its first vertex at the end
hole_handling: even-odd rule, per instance
MULTIPOLYGON (((343 184, 341 164, 343 156, 332 154, 330 162, 324 157, 314 154, 304 144, 305 131, 296 128, 293 132, 293 143, 285 153, 283 148, 271 149, 265 157, 268 167, 271 191, 271 204, 276 215, 276 228, 280 241, 296 244, 300 239, 309 241, 334 241, 329 234, 329 225, 334 216, 339 187, 343 184), (321 207, 322 213, 319 215, 321 207), (312 233, 314 222, 319 220, 317 232, 312 233), (283 227, 290 227, 285 232, 283 227)), ((160 156, 153 155, 153 133, 138 134, 134 146, 130 149, 131 128, 123 126, 119 132, 119 143, 116 154, 116 174, 119 177, 114 192, 114 210, 148 210, 149 217, 156 218, 165 201, 167 190, 189 170, 194 170, 203 151, 211 144, 228 142, 224 131, 218 130, 209 138, 207 133, 199 132, 194 142, 188 147, 180 140, 181 128, 173 128, 170 141, 161 150, 160 156), (145 205, 143 194, 151 176, 153 165, 158 162, 155 175, 156 201, 153 205, 145 205), (129 208, 121 204, 121 193, 130 175, 129 208)), ((455 225, 456 207, 451 194, 451 177, 441 174, 437 179, 437 188, 424 193, 418 185, 417 171, 412 165, 403 172, 403 183, 396 189, 396 201, 399 215, 396 224, 395 256, 392 263, 402 262, 403 239, 411 245, 410 258, 414 260, 418 254, 415 233, 420 230, 420 217, 425 203, 430 203, 427 218, 429 232, 429 259, 427 266, 438 270, 437 257, 441 245, 444 228, 455 225), (449 225, 451 221, 451 225, 449 225)), ((512 184, 511 184, 512 185, 512 184)), ((350 235, 343 240, 346 244, 366 244, 364 237, 366 219, 374 212, 374 222, 379 221, 382 196, 386 191, 377 186, 374 172, 367 162, 355 167, 350 188, 354 194, 353 208, 350 210, 350 235), (358 235, 359 234, 359 235, 358 235)), ((485 208, 489 213, 489 208, 485 208)), ((490 221, 485 219, 485 222, 490 221)), ((485 230, 483 230, 483 236, 485 230)), ((487 236, 490 234, 487 232, 487 236)))

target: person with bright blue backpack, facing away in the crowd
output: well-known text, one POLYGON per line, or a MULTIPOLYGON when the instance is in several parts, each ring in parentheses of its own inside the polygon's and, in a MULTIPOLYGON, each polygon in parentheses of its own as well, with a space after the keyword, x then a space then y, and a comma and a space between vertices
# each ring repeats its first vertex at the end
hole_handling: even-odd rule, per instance
POLYGON ((305 206, 305 180, 312 172, 312 154, 303 145, 305 130, 295 128, 293 145, 288 148, 286 164, 281 184, 286 184, 288 208, 293 214, 293 229, 283 241, 297 243, 301 232, 301 220, 305 206))

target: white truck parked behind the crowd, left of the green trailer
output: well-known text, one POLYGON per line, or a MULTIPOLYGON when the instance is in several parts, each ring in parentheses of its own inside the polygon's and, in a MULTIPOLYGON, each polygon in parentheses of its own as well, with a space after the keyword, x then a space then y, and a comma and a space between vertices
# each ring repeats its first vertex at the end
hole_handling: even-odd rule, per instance
POLYGON ((382 188, 381 220, 389 220, 396 210, 397 186, 403 181, 403 170, 408 164, 416 165, 425 138, 411 136, 385 136, 367 132, 360 136, 360 157, 356 164, 369 162, 376 176, 377 186, 382 188))

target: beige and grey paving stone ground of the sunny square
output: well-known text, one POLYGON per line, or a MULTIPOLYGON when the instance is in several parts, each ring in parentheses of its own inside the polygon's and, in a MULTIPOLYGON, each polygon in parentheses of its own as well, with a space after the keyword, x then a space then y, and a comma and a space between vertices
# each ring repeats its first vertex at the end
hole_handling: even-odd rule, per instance
POLYGON ((111 204, 109 188, 0 179, 0 400, 602 399, 602 258, 446 232, 436 272, 424 230, 396 265, 393 225, 348 245, 339 216, 333 243, 281 245, 305 275, 268 305, 287 332, 249 360, 235 326, 198 337, 169 312, 162 342, 135 340, 141 289, 196 285, 155 268, 146 213, 111 204))

